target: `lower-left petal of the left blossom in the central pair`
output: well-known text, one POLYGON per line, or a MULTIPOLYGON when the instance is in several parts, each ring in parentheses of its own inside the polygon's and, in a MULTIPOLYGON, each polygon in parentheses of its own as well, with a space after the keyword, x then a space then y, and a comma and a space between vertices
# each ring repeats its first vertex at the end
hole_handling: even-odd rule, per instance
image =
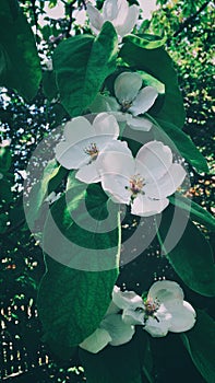
POLYGON ((55 151, 57 161, 65 169, 79 169, 88 161, 82 147, 68 141, 59 142, 55 151))

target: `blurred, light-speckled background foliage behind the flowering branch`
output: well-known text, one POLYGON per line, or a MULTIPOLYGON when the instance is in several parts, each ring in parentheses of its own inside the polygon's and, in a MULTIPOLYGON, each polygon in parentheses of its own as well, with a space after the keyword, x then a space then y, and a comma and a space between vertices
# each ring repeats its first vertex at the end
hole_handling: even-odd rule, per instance
MULTIPOLYGON (((131 1, 133 2, 136 1, 131 1)), ((84 373, 79 367, 80 361, 75 358, 72 362, 59 361, 50 350, 44 348, 40 339, 41 328, 35 307, 35 298, 45 265, 39 239, 36 241, 33 237, 25 221, 22 193, 25 170, 34 149, 53 127, 69 118, 56 94, 55 83, 48 71, 50 65, 48 60, 63 38, 87 33, 87 23, 84 26, 81 25, 85 2, 20 0, 19 3, 35 35, 43 68, 43 82, 32 103, 24 101, 11 89, 2 88, 0 95, 1 379, 38 383, 82 382, 84 373), (56 5, 59 11, 52 13, 56 5)), ((141 5, 147 8, 148 3, 150 1, 145 0, 141 5)), ((98 1, 97 4, 100 8, 103 1, 98 1)), ((191 188, 188 196, 212 213, 215 211, 213 206, 215 184, 214 16, 215 8, 212 1, 158 0, 151 20, 144 20, 143 8, 143 23, 140 26, 140 32, 166 36, 166 48, 175 61, 184 100, 187 112, 184 131, 205 155, 211 170, 211 175, 198 175, 193 169, 190 169, 191 188)), ((212 234, 204 228, 201 229, 214 245, 212 234)), ((130 265, 129 287, 135 288, 132 282, 134 274, 132 267, 136 271, 136 264, 130 265)), ((152 274, 156 278, 164 275, 172 276, 172 270, 168 268, 165 260, 159 259, 156 244, 152 244, 147 272, 151 274, 151 278, 152 274)), ((134 281, 139 277, 141 276, 135 276, 134 281)), ((193 299, 195 299, 194 293, 193 299)), ((207 299, 204 299, 203 304, 206 304, 206 301, 207 299)), ((159 347, 152 340, 153 347, 157 352, 155 382, 181 382, 182 379, 186 381, 186 376, 187 379, 190 376, 187 381, 204 382, 195 372, 188 356, 182 360, 178 358, 181 346, 178 345, 175 335, 160 339, 159 347), (174 346, 166 347, 168 345, 174 346), (168 351, 164 352, 166 349, 168 351), (181 371, 181 368, 184 370, 181 371)))

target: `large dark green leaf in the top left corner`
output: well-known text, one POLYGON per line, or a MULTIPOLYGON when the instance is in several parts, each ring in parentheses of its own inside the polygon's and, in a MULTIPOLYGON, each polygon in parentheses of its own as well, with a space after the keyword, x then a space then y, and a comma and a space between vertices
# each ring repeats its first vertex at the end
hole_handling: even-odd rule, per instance
POLYGON ((32 101, 38 91, 41 70, 31 26, 14 0, 1 1, 0 57, 0 84, 32 101))

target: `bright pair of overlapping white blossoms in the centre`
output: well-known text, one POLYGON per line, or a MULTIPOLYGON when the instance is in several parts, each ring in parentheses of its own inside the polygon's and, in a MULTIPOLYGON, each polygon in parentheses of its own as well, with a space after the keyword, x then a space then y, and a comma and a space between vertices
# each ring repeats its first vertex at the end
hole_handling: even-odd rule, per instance
POLYGON ((118 137, 119 125, 111 114, 99 113, 93 124, 76 117, 65 124, 64 141, 57 144, 56 158, 65 169, 77 170, 77 179, 100 182, 112 201, 131 206, 133 214, 162 212, 186 171, 172 163, 171 150, 163 142, 145 143, 133 158, 128 143, 118 137))

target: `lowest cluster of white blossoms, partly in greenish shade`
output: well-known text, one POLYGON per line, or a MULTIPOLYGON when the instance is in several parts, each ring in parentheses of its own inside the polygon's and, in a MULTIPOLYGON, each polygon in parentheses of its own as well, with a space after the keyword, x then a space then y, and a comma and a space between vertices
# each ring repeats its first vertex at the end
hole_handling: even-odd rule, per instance
POLYGON ((134 291, 120 291, 115 286, 112 301, 99 327, 80 347, 97 353, 108 344, 120 346, 130 341, 135 325, 153 337, 164 337, 168 332, 183 333, 194 326, 195 311, 183 301, 183 291, 174 281, 155 282, 146 299, 134 291))

